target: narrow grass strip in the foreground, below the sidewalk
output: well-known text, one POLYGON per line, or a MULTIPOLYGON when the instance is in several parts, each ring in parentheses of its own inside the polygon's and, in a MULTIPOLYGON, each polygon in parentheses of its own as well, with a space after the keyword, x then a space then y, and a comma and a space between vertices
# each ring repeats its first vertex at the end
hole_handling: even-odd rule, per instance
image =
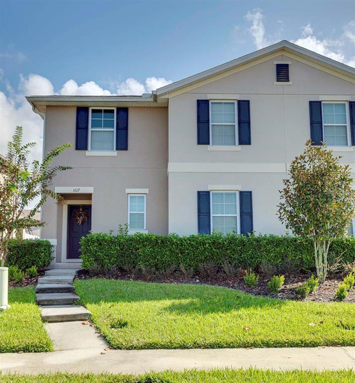
POLYGON ((190 370, 183 373, 148 373, 142 376, 128 375, 4 375, 1 383, 353 383, 354 371, 309 371, 271 372, 243 370, 190 370))

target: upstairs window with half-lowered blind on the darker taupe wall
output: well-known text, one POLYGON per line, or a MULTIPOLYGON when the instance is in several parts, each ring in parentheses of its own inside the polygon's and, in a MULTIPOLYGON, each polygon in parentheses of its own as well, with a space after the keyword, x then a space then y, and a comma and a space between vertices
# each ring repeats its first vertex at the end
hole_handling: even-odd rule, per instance
POLYGON ((89 113, 89 151, 116 150, 116 108, 92 107, 89 113))

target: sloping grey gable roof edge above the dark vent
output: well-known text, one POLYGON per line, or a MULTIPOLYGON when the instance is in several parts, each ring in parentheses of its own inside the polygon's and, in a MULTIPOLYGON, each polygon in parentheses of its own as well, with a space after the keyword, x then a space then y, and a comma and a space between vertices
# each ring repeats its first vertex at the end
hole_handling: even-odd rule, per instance
POLYGON ((165 85, 161 88, 158 88, 156 92, 154 93, 156 93, 158 97, 164 96, 168 93, 175 92, 178 89, 193 85, 202 80, 206 80, 210 77, 216 76, 223 72, 227 72, 231 69, 237 68, 238 66, 244 65, 248 62, 251 62, 253 60, 266 56, 270 53, 274 53, 281 50, 296 54, 300 57, 306 58, 328 69, 332 69, 336 72, 339 72, 341 74, 344 74, 348 77, 355 79, 355 68, 349 65, 343 64, 339 61, 332 60, 329 57, 323 56, 319 53, 303 48, 302 46, 296 45, 287 40, 282 40, 275 44, 269 45, 265 48, 256 50, 255 52, 246 54, 245 56, 236 58, 235 60, 228 61, 224 64, 215 66, 214 68, 197 73, 193 76, 186 77, 182 80, 173 82, 169 85, 165 85))

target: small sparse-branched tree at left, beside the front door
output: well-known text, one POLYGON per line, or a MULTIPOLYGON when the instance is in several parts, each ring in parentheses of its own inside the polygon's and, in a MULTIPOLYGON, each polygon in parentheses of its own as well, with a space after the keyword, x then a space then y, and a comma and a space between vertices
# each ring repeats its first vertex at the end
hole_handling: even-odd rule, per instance
POLYGON ((58 201, 62 197, 49 189, 54 176, 68 166, 50 167, 52 161, 64 152, 70 144, 58 146, 43 158, 42 163, 32 161, 28 154, 36 145, 34 142, 22 145, 22 127, 16 126, 12 141, 7 144, 6 157, 0 157, 0 265, 5 263, 7 246, 13 232, 20 228, 43 226, 34 218, 36 211, 48 197, 58 201), (34 206, 24 216, 23 209, 30 203, 34 206))

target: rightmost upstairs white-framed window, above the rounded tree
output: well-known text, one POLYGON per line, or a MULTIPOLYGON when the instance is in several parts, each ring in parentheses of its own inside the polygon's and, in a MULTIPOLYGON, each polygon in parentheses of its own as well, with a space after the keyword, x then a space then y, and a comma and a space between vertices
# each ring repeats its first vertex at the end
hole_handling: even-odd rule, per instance
POLYGON ((349 108, 344 101, 322 101, 323 138, 328 146, 349 146, 349 108))

